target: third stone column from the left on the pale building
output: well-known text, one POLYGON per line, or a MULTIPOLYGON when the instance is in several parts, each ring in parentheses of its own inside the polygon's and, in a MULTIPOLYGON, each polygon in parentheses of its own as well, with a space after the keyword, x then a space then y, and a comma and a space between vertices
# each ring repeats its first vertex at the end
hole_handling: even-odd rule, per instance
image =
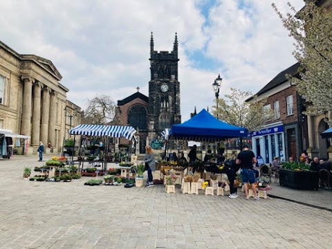
POLYGON ((50 116, 50 88, 44 86, 43 88, 43 102, 42 102, 42 126, 40 129, 40 140, 46 146, 48 143, 48 121, 50 116))

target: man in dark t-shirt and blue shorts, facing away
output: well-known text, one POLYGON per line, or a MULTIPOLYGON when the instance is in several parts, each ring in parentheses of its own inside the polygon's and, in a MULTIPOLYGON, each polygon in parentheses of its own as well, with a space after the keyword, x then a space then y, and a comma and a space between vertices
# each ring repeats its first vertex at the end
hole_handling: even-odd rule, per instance
POLYGON ((255 200, 259 200, 257 196, 256 186, 255 186, 255 173, 253 171, 252 164, 257 163, 257 158, 255 157, 254 152, 249 150, 248 145, 243 145, 243 150, 237 155, 237 165, 241 167, 241 176, 243 181, 243 189, 246 194, 246 199, 249 199, 248 183, 252 192, 254 193, 255 200))

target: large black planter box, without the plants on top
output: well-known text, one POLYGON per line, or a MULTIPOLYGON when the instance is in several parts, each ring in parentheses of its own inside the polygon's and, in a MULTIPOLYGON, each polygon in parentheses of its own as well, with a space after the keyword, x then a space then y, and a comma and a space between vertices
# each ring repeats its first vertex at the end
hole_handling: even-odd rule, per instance
POLYGON ((279 183, 298 190, 318 190, 318 172, 279 169, 279 183))

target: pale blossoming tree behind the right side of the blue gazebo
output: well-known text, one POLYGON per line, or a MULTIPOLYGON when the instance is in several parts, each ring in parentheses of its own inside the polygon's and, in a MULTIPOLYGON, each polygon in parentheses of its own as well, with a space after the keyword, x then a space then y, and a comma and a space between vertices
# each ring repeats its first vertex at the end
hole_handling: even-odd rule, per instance
POLYGON ((272 109, 264 108, 266 99, 257 100, 255 96, 250 102, 246 102, 252 96, 250 91, 230 89, 231 94, 225 94, 225 99, 216 100, 218 108, 212 107, 212 113, 220 120, 238 127, 244 127, 248 131, 259 131, 261 127, 274 116, 272 109))

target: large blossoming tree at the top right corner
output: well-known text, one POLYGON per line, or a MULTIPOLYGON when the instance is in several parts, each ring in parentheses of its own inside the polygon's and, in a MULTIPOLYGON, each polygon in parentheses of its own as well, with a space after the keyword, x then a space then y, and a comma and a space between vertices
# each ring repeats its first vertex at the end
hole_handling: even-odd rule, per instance
POLYGON ((299 12, 288 3, 291 13, 286 16, 273 3, 289 36, 295 39, 293 55, 300 64, 300 77, 288 78, 310 104, 305 113, 313 115, 332 110, 332 15, 315 2, 306 3, 299 12))

